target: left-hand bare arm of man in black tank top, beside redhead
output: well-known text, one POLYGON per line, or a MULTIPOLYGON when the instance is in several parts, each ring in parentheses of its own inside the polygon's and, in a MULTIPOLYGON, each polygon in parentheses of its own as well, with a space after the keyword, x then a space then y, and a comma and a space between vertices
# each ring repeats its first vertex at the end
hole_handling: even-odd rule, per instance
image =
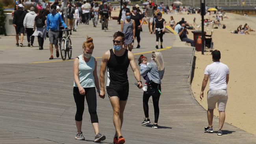
POLYGON ((109 57, 110 57, 110 52, 109 51, 105 52, 102 56, 102 60, 100 63, 100 97, 101 98, 105 97, 105 87, 104 87, 105 72, 107 69, 109 57))

